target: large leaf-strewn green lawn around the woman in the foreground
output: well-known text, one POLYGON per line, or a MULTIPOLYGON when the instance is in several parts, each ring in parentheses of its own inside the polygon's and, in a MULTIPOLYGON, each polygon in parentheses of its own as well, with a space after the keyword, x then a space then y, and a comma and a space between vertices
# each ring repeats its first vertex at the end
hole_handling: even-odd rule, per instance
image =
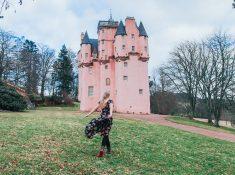
POLYGON ((235 144, 141 121, 115 119, 113 155, 84 137, 75 108, 0 113, 0 174, 234 174, 235 144))

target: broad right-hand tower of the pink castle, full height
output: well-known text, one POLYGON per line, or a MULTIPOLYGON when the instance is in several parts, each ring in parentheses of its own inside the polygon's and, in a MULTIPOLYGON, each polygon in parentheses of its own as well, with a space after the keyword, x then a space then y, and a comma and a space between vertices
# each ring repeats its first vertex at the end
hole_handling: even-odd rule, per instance
POLYGON ((133 17, 126 18, 125 27, 120 22, 118 29, 114 44, 118 48, 115 53, 116 108, 124 113, 150 113, 148 57, 144 60, 141 55, 148 36, 146 32, 142 36, 133 17))

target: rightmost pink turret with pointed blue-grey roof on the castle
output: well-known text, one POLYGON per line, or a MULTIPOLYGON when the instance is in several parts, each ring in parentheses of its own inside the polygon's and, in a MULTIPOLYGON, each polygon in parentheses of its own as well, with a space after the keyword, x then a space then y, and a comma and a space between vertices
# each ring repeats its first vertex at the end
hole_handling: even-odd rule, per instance
POLYGON ((140 52, 140 59, 142 61, 147 61, 149 59, 148 53, 148 35, 144 28, 142 22, 139 24, 139 52, 140 52))

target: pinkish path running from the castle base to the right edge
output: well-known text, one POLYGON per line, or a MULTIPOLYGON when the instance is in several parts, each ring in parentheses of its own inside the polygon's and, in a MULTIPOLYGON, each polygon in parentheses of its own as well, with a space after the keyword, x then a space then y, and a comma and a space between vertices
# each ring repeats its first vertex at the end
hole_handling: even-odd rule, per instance
POLYGON ((149 122, 157 123, 159 125, 169 126, 169 127, 173 127, 176 129, 181 129, 184 131, 201 134, 201 135, 212 137, 212 138, 235 142, 235 134, 212 131, 212 130, 203 129, 203 128, 199 128, 195 126, 188 126, 188 125, 174 123, 174 122, 166 120, 167 118, 166 115, 157 115, 157 114, 151 114, 151 115, 115 114, 115 115, 120 118, 149 121, 149 122))

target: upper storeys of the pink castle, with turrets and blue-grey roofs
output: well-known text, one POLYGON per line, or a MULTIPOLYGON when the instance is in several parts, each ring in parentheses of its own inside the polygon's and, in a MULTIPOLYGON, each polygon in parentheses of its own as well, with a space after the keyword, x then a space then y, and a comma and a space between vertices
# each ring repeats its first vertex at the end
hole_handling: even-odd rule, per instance
POLYGON ((125 25, 110 17, 99 21, 97 30, 98 39, 90 39, 87 32, 81 34, 80 67, 91 66, 93 61, 105 64, 110 59, 127 60, 130 55, 138 56, 137 61, 148 61, 148 35, 143 23, 137 26, 134 17, 127 17, 125 25))

